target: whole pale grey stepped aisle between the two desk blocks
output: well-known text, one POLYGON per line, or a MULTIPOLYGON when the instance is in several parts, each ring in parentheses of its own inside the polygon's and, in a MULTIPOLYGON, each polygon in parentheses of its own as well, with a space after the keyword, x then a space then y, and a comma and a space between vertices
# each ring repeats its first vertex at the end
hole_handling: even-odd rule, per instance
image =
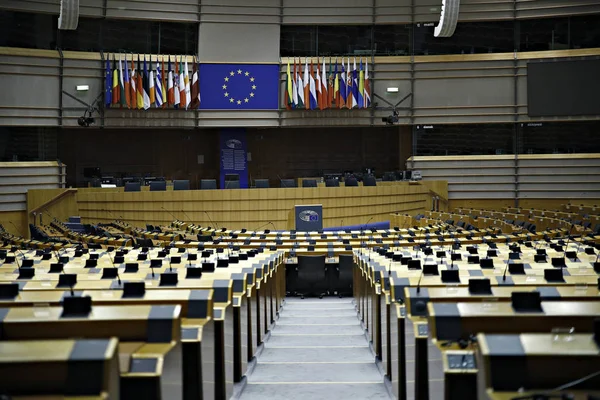
POLYGON ((351 298, 286 299, 241 400, 390 399, 351 298))

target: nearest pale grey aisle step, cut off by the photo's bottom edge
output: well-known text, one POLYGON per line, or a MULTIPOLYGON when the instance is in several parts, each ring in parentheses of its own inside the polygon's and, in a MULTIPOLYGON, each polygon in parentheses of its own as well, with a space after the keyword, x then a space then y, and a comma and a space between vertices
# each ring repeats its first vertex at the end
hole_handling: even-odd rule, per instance
POLYGON ((389 400, 382 383, 253 384, 248 383, 242 400, 389 400))

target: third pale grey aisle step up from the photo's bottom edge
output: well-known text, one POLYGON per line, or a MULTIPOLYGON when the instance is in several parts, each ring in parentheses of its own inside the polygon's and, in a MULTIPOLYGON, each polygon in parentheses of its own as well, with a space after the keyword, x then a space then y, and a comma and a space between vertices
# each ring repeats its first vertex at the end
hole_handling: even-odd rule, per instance
POLYGON ((373 363, 375 362, 375 357, 367 347, 350 347, 342 350, 336 348, 278 349, 265 346, 260 354, 258 363, 265 364, 279 362, 373 363))

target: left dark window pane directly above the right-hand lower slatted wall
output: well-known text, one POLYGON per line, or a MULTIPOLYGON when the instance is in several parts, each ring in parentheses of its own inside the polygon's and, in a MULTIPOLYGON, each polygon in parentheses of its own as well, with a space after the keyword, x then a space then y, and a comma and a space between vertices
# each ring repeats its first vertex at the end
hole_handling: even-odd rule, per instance
POLYGON ((512 124, 417 126, 417 155, 511 154, 512 124))

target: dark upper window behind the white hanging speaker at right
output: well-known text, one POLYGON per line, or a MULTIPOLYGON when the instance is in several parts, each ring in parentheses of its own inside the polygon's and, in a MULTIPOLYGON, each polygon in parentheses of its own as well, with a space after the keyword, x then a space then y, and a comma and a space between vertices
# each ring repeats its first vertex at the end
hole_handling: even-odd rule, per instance
POLYGON ((414 29, 414 53, 479 54, 506 53, 515 50, 514 22, 459 22, 449 38, 434 36, 435 24, 417 24, 414 29))

